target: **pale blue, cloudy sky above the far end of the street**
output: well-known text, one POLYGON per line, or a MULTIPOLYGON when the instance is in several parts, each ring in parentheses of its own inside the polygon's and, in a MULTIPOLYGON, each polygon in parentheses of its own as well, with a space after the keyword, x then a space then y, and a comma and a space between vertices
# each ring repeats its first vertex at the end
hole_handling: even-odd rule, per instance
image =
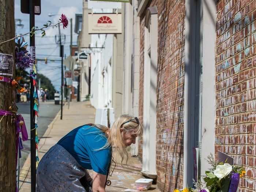
MULTIPOLYGON (((60 15, 64 14, 67 18, 73 20, 73 45, 76 45, 77 34, 74 32, 75 14, 82 13, 83 0, 41 0, 41 15, 35 15, 35 26, 39 28, 48 21, 56 24, 59 21, 60 15), (56 14, 56 16, 49 17, 48 14, 56 14)), ((25 34, 29 32, 29 14, 23 14, 20 11, 20 0, 15 0, 15 19, 21 19, 21 24, 24 25, 23 29, 19 26, 16 27, 17 34, 25 34)), ((70 22, 67 28, 63 29, 61 25, 61 34, 66 35, 64 44, 64 54, 69 56, 70 49, 70 36, 71 27, 70 22)), ((46 30, 46 37, 41 38, 41 32, 37 31, 35 34, 35 52, 38 59, 56 59, 61 60, 59 57, 60 48, 55 42, 55 35, 59 35, 58 27, 48 27, 46 30)), ((29 35, 24 36, 25 41, 29 43, 29 35)), ((29 50, 29 47, 27 48, 29 50)), ((38 61, 38 73, 47 76, 56 90, 60 91, 61 86, 61 62, 50 62, 45 64, 44 61, 38 61)))

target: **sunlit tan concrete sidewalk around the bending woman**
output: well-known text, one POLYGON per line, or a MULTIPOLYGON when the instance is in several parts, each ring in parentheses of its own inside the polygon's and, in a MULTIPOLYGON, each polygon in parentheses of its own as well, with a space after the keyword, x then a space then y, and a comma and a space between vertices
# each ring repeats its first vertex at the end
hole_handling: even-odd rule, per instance
MULTIPOLYGON (((40 139, 38 145, 39 159, 56 144, 64 135, 72 129, 87 123, 94 123, 95 108, 90 105, 90 102, 71 102, 70 107, 63 107, 63 120, 60 120, 60 112, 49 125, 44 136, 40 139)), ((38 119, 40 121, 40 118, 38 119)), ((135 181, 142 178, 140 173, 141 163, 137 158, 131 158, 128 161, 128 166, 117 165, 110 180, 111 186, 106 187, 106 192, 121 192, 125 189, 135 189, 135 181)), ((27 158, 24 166, 20 171, 20 192, 31 191, 31 176, 30 176, 30 155, 27 158)), ((152 192, 159 192, 153 185, 150 189, 152 192)))

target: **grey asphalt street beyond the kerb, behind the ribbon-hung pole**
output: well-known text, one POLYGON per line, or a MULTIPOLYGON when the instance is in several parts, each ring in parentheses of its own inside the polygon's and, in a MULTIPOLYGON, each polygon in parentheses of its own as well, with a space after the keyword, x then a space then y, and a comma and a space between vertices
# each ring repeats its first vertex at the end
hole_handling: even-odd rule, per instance
MULTIPOLYGON (((24 162, 27 159, 27 156, 30 153, 30 103, 16 103, 18 107, 18 113, 22 114, 25 124, 27 127, 27 133, 29 135, 29 140, 23 142, 23 150, 21 151, 22 158, 20 158, 20 169, 22 168, 24 162)), ((39 104, 39 113, 38 113, 38 139, 42 138, 48 125, 52 122, 53 118, 60 110, 60 105, 54 105, 54 101, 50 100, 48 102, 41 102, 39 104)))

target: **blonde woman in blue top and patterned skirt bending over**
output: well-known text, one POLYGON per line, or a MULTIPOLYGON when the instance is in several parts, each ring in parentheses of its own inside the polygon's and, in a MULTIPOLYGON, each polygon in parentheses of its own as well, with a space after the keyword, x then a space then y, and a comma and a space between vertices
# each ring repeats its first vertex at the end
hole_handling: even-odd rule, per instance
POLYGON ((127 147, 143 133, 137 117, 124 114, 111 129, 86 124, 73 129, 51 147, 37 168, 37 192, 105 192, 112 154, 128 159, 127 147), (113 153, 112 153, 113 151, 113 153), (87 170, 93 170, 93 178, 87 170))

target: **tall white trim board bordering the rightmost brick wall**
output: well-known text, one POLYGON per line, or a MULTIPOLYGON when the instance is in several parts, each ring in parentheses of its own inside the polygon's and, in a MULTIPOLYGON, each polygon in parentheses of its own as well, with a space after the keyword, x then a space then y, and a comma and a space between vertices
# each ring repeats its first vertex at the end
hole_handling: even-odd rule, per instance
POLYGON ((210 168, 204 161, 214 154, 215 142, 215 40, 216 2, 203 1, 203 97, 202 97, 202 152, 201 175, 210 168))

